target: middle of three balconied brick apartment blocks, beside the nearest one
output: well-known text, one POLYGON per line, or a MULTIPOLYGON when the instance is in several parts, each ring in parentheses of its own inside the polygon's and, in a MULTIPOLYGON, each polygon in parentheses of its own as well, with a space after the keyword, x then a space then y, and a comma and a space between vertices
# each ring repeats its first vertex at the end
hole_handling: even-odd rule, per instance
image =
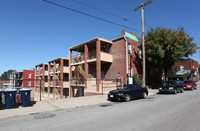
POLYGON ((69 96, 69 59, 51 60, 48 67, 48 94, 53 94, 53 98, 69 96))

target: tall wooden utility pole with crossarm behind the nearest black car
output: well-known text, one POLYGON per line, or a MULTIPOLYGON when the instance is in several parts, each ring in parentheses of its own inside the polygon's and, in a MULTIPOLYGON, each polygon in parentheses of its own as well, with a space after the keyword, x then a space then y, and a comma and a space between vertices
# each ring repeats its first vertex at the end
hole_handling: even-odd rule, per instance
POLYGON ((142 11, 142 59, 143 59, 143 72, 142 72, 142 87, 145 87, 145 74, 146 74, 146 67, 145 67, 145 46, 144 46, 144 7, 151 4, 153 0, 149 0, 146 3, 142 3, 138 7, 134 8, 135 11, 141 9, 142 11))

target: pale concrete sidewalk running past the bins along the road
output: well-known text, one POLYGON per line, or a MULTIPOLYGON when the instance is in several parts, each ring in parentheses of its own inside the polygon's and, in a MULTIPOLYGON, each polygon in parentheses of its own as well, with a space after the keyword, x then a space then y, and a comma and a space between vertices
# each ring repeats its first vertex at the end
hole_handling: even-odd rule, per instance
MULTIPOLYGON (((154 95, 158 90, 149 89, 149 96, 154 95)), ((54 99, 37 101, 33 107, 19 107, 17 109, 0 110, 0 118, 16 117, 40 112, 56 111, 69 108, 77 108, 89 105, 109 103, 107 95, 95 95, 85 97, 74 97, 67 99, 54 99)))

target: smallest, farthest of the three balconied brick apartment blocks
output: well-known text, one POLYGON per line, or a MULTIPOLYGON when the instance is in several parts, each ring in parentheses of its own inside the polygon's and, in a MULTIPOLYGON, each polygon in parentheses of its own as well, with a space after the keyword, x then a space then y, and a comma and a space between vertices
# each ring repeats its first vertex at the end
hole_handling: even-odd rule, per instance
POLYGON ((39 93, 41 87, 42 94, 44 94, 44 91, 48 91, 48 64, 42 63, 36 65, 35 70, 36 91, 39 93))

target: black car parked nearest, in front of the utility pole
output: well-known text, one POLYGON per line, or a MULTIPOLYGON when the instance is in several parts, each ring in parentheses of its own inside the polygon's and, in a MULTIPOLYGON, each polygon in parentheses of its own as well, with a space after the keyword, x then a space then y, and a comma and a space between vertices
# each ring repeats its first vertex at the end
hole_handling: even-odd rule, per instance
POLYGON ((146 98, 148 90, 138 85, 125 85, 122 89, 112 90, 108 93, 110 101, 130 101, 136 98, 146 98))

